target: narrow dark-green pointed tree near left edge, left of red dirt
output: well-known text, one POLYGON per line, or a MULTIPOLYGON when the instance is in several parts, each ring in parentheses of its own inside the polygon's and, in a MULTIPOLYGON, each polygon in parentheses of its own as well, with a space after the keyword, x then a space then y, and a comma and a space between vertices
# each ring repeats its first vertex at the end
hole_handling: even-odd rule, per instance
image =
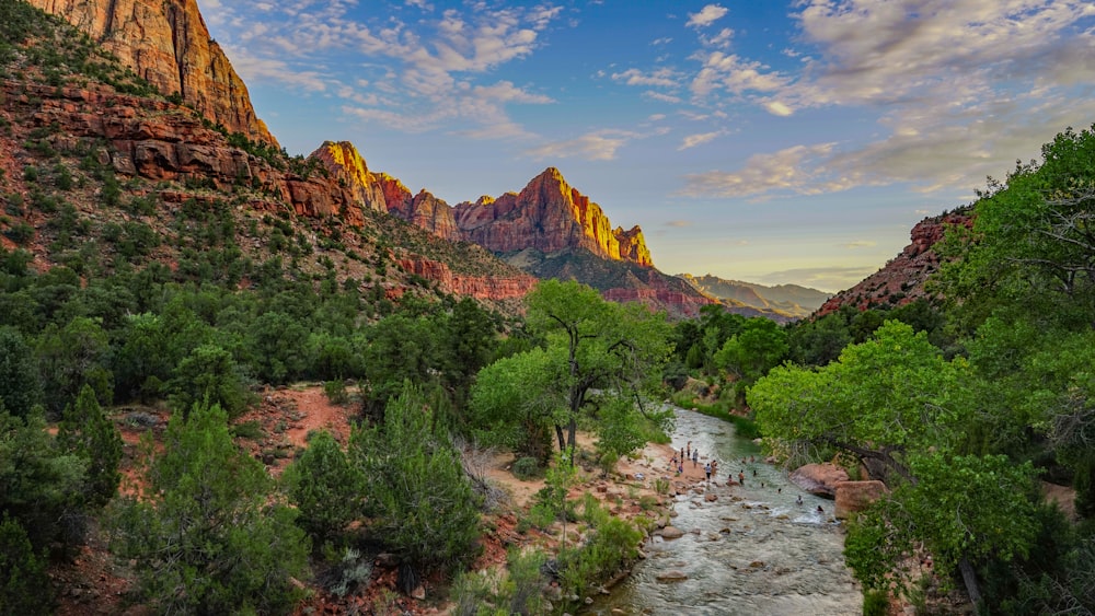
POLYGON ((88 462, 87 495, 93 507, 106 504, 118 491, 122 475, 122 434, 103 414, 95 392, 84 385, 74 405, 65 407, 57 426, 57 443, 62 451, 88 462))

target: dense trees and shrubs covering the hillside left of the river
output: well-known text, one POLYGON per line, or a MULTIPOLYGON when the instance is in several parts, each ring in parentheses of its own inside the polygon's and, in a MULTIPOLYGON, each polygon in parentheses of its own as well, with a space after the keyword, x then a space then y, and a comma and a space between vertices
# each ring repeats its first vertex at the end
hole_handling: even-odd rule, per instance
MULTIPOLYGON (((24 92, 97 83, 160 96, 23 2, 0 1, 0 77, 24 92)), ((291 612, 308 589, 339 597, 364 589, 380 551, 399 563, 406 592, 423 576, 443 582, 466 568, 484 514, 497 507, 468 452, 491 422, 511 421, 476 420, 475 375, 497 359, 552 348, 555 335, 447 295, 399 258, 439 258, 466 274, 503 266, 378 212, 351 228, 337 217, 298 218, 288 206, 255 211, 252 199, 270 195, 246 182, 226 189, 203 177, 122 176, 108 142, 35 124, 37 96, 3 98, 0 125, 3 144, 26 152, 15 173, 0 173, 0 613, 54 609, 47 571, 89 544, 118 557, 132 580, 127 601, 163 613, 291 612), (187 198, 166 202, 164 193, 187 198), (262 427, 239 418, 268 387, 299 381, 325 383, 332 399, 359 409, 357 425, 348 442, 319 432, 308 448, 269 452, 295 457, 274 480, 240 446, 262 427), (119 427, 143 432, 142 445, 124 445, 119 427)), ((241 136, 226 142, 275 168, 315 171, 241 136)), ((581 298, 567 310, 616 314, 588 289, 558 292, 581 298)), ((654 340, 659 323, 647 330, 636 322, 613 349, 595 347, 563 426, 611 416, 606 438, 622 453, 641 442, 632 432, 657 432, 656 421, 599 402, 645 395, 652 383, 623 363, 627 352, 637 357, 630 336, 654 340)), ((583 586, 634 556, 642 536, 630 523, 595 519, 592 505, 587 518, 603 528, 591 534, 595 547, 570 546, 554 566, 557 576, 580 569, 568 583, 583 586)), ((545 579, 526 565, 546 560, 515 555, 519 596, 489 601, 540 605, 533 595, 545 579)))

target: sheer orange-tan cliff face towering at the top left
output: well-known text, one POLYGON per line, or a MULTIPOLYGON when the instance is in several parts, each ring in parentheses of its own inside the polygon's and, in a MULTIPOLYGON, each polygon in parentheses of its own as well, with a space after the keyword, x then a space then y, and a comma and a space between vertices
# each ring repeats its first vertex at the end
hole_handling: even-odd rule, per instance
POLYGON ((209 37, 196 0, 28 0, 76 25, 164 95, 178 93, 214 123, 277 144, 247 86, 209 37))

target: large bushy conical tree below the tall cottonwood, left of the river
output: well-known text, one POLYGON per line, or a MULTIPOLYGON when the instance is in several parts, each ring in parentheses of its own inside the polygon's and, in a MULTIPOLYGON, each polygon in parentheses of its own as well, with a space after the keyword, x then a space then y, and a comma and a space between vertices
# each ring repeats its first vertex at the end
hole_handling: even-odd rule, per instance
POLYGON ((405 382, 383 415, 354 430, 350 460, 365 476, 370 527, 400 556, 401 586, 412 590, 418 571, 476 556, 480 499, 417 387, 405 382))

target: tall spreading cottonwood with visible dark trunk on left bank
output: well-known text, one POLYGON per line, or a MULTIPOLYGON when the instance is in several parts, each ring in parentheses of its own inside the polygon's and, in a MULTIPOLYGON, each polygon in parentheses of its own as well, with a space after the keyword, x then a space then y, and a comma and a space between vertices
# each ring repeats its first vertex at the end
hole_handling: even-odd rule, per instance
MULTIPOLYGON (((575 446, 578 417, 596 407, 595 391, 601 397, 627 399, 643 411, 644 392, 660 383, 671 350, 665 314, 641 304, 608 302, 596 290, 573 281, 541 281, 527 302, 528 327, 543 337, 545 348, 510 360, 521 364, 523 373, 540 376, 521 383, 507 379, 503 370, 487 369, 480 374, 476 390, 508 393, 481 396, 481 403, 516 396, 532 400, 518 407, 519 412, 526 417, 542 414, 561 451, 575 446)), ((475 391, 472 397, 476 399, 475 391)), ((500 407, 493 410, 495 416, 505 412, 500 407)))

